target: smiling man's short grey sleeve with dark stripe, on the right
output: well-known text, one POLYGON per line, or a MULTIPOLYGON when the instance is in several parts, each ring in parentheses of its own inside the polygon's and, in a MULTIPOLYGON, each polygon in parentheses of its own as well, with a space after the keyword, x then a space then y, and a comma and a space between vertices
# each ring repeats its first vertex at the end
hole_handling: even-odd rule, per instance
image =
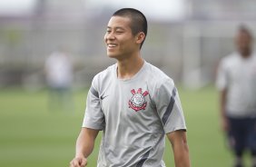
POLYGON ((182 103, 172 79, 168 79, 158 88, 154 102, 164 133, 186 130, 182 103))

